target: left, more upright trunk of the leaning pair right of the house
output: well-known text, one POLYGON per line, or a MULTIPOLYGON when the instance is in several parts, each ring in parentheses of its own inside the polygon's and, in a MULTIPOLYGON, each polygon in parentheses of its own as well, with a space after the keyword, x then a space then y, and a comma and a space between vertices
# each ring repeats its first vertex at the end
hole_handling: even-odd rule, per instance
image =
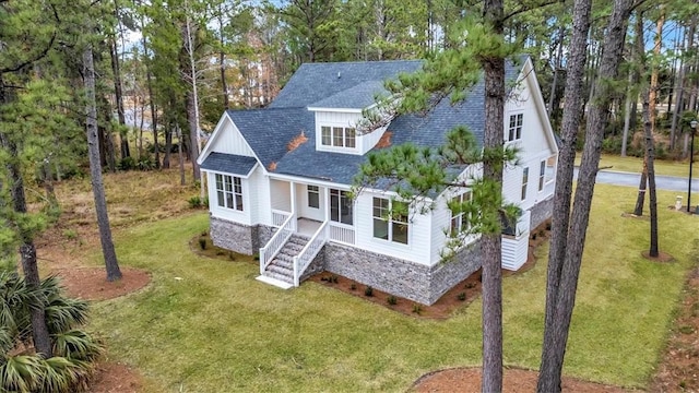
POLYGON ((582 120, 584 99, 584 73, 587 59, 587 40, 590 31, 590 13, 592 0, 573 2, 572 37, 568 55, 568 74, 564 100, 561 145, 558 152, 556 174, 556 192, 554 214, 552 218, 552 240, 548 250, 548 271, 546 284, 546 314, 544 322, 544 346, 537 392, 559 392, 562 357, 556 357, 557 347, 554 341, 560 335, 556 332, 556 305, 560 290, 560 281, 566 259, 568 226, 570 222, 570 201, 572 198, 572 178, 576 160, 576 142, 578 129, 582 120))

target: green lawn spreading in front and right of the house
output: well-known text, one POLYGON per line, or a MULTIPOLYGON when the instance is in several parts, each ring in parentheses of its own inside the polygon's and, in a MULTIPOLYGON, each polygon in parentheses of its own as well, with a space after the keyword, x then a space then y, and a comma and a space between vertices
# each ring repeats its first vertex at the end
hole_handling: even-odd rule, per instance
MULTIPOLYGON (((621 217, 635 198, 597 184, 568 376, 643 386, 654 371, 699 218, 661 209, 661 249, 676 262, 650 263, 640 257, 649 223, 621 217)), ((673 202, 660 192, 661 206, 673 202)), ((94 303, 92 329, 111 360, 142 373, 147 392, 404 392, 425 372, 481 361, 479 300, 447 321, 423 321, 313 283, 284 291, 257 282, 252 263, 193 254, 187 242, 206 227, 208 215, 197 214, 117 237, 121 263, 149 270, 153 282, 94 303)), ((538 367, 545 276, 540 261, 505 279, 507 365, 538 367)))

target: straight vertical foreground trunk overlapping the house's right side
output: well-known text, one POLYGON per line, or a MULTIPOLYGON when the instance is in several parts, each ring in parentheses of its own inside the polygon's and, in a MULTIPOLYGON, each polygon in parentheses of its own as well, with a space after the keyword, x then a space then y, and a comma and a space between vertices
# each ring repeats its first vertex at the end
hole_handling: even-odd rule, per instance
MULTIPOLYGON (((493 24, 493 34, 502 37, 503 0, 486 0, 483 7, 484 22, 493 24)), ((487 53, 481 60, 485 72, 485 130, 484 151, 502 150, 505 122, 505 59, 487 53)), ((486 154, 483 176, 496 184, 494 193, 502 193, 502 158, 486 154)), ((498 212, 488 212, 498 215, 498 212)), ((484 234, 483 251, 483 383, 481 391, 502 391, 502 236, 484 234)))

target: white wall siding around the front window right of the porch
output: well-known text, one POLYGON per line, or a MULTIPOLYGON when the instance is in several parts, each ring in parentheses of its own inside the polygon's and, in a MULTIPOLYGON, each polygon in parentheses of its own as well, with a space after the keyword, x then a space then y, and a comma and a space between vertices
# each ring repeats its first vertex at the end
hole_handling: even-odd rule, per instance
POLYGON ((357 196, 354 206, 355 228, 357 228, 355 247, 393 258, 431 265, 431 215, 412 214, 407 245, 378 239, 374 237, 374 196, 391 198, 389 194, 369 191, 365 191, 357 196))

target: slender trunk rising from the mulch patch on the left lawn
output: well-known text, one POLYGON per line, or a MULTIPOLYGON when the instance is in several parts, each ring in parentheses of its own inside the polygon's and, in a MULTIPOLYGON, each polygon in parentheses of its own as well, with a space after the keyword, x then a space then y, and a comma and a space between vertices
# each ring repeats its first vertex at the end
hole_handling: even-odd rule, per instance
POLYGON ((95 211, 97 213, 97 226, 99 227, 99 240, 102 252, 107 269, 107 281, 114 282, 121 278, 121 271, 117 262, 117 253, 111 241, 111 228, 107 214, 107 200, 105 186, 102 181, 102 168, 99 167, 99 140, 97 139, 97 108, 95 99, 95 69, 92 56, 92 46, 83 51, 83 68, 85 78, 85 91, 87 95, 86 132, 87 148, 90 155, 90 177, 92 179, 92 192, 95 196, 95 211))

